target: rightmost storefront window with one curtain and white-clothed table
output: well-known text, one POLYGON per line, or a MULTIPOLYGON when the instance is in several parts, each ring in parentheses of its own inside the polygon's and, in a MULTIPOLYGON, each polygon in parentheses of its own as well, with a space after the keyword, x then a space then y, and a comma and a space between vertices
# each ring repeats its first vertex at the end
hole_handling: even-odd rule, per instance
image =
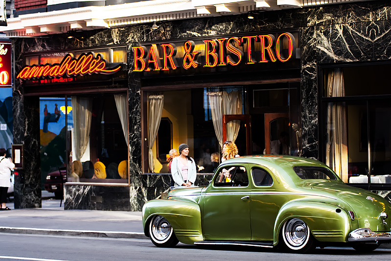
POLYGON ((390 70, 359 68, 377 70, 369 77, 373 85, 366 75, 350 73, 357 67, 325 70, 325 161, 347 183, 368 183, 370 177, 371 183, 391 184, 391 81, 381 75, 385 68, 390 70))

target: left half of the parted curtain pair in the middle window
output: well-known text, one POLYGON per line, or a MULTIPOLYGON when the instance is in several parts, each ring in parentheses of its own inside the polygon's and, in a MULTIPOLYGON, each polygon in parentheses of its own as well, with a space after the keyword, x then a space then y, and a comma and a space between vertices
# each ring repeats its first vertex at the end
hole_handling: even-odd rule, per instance
POLYGON ((223 119, 222 119, 222 102, 223 95, 222 92, 207 93, 209 95, 209 103, 212 114, 213 126, 215 127, 215 133, 217 141, 220 144, 220 147, 223 146, 223 119))

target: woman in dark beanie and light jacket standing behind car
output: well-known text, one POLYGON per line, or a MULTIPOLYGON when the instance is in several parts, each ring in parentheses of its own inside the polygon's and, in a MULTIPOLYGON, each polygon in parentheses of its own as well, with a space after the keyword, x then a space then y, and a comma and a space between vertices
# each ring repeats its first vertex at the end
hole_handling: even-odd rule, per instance
POLYGON ((189 145, 182 143, 178 148, 179 156, 173 159, 171 174, 173 175, 175 187, 194 185, 197 175, 195 161, 189 157, 189 145))

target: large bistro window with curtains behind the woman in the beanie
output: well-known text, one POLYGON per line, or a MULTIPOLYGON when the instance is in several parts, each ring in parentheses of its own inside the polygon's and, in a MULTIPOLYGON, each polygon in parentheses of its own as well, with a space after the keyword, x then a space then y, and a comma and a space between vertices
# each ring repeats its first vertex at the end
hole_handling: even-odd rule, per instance
MULTIPOLYGON (((198 166, 198 172, 214 172, 216 164, 212 161, 217 159, 219 163, 222 144, 222 129, 216 129, 215 126, 220 126, 223 113, 244 113, 244 89, 198 88, 147 95, 148 171, 168 173, 168 163, 163 160, 164 157, 172 148, 178 149, 179 144, 186 143, 190 148, 189 155, 198 166), (209 113, 211 118, 205 117, 209 113), (172 133, 169 133, 170 128, 172 133), (153 133, 156 135, 153 136, 153 133), (170 137, 172 142, 169 142, 170 137), (162 138, 165 144, 164 151, 163 143, 160 143, 162 138), (169 143, 170 147, 167 146, 169 143)), ((240 122, 232 122, 227 127, 227 140, 235 141, 240 127, 240 122)), ((245 144, 239 142, 237 145, 240 148, 239 153, 245 155, 245 144)))

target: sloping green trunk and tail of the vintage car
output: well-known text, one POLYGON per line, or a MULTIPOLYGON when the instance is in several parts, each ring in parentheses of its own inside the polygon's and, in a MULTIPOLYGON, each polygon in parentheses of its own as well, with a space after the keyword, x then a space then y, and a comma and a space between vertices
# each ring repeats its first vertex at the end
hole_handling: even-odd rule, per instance
POLYGON ((312 190, 327 193, 344 201, 353 211, 359 227, 369 227, 372 231, 390 231, 391 226, 391 203, 368 190, 358 189, 333 181, 312 182, 307 184, 312 190), (388 214, 385 220, 387 225, 380 218, 380 213, 388 214))

